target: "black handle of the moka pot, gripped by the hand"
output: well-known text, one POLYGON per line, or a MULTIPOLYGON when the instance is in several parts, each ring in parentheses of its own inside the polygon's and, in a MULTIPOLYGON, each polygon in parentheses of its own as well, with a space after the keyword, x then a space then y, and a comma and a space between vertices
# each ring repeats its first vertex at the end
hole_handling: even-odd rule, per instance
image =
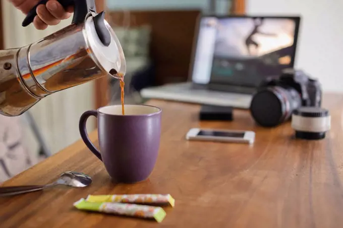
MULTIPOLYGON (((74 16, 72 23, 80 24, 85 21, 85 17, 88 12, 93 11, 96 13, 94 0, 57 0, 64 9, 67 9, 70 6, 74 6, 74 16)), ((37 16, 37 7, 38 5, 45 5, 48 0, 41 0, 34 6, 30 12, 26 15, 22 26, 26 27, 33 22, 35 16, 37 16)))

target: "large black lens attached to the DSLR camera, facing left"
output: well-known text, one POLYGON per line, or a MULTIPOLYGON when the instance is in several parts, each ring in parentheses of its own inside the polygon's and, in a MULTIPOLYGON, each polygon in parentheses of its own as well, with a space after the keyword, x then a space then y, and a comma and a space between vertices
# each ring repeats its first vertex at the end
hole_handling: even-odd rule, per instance
POLYGON ((288 121, 301 106, 301 97, 292 87, 271 86, 259 90, 250 104, 254 120, 263 127, 274 127, 288 121))

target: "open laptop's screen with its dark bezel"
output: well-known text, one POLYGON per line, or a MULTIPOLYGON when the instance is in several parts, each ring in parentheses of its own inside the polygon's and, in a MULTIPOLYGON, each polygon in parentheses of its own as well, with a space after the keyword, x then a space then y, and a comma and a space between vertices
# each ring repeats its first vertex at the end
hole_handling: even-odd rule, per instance
POLYGON ((256 87, 294 66, 299 17, 202 17, 192 81, 256 87))

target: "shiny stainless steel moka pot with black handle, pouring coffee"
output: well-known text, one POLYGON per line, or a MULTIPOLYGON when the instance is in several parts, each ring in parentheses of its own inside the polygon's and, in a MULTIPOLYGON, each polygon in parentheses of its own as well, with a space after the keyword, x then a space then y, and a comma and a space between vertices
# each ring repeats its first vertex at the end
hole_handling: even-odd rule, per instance
MULTIPOLYGON (((37 6, 46 2, 39 2, 22 25, 29 25, 37 6)), ((124 77, 123 49, 104 12, 96 13, 94 0, 59 2, 74 6, 71 25, 30 45, 0 50, 0 114, 19 116, 51 93, 107 75, 124 77)))

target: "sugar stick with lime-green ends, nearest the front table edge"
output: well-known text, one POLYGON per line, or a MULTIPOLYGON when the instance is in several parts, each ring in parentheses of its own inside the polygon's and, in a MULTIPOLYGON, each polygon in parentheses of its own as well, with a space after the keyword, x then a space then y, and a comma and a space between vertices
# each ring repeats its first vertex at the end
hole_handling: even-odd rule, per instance
POLYGON ((108 214, 125 215, 140 218, 155 219, 161 222, 165 217, 165 211, 161 207, 128 203, 88 202, 80 199, 74 203, 79 210, 97 211, 108 214))

